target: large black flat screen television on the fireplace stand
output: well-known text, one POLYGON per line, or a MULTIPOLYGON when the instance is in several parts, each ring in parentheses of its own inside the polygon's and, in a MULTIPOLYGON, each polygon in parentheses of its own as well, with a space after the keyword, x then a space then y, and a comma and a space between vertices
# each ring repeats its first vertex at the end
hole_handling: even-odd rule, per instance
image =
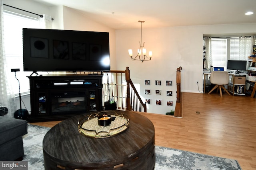
POLYGON ((24 71, 109 71, 109 33, 23 29, 24 71))

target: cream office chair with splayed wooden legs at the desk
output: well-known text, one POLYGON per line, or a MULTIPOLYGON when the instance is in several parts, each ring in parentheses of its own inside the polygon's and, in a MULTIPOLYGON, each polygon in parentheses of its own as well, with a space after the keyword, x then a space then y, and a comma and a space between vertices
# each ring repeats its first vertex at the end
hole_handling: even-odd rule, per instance
POLYGON ((221 89, 225 90, 225 92, 227 92, 227 94, 230 95, 228 90, 226 90, 226 88, 223 86, 223 85, 228 84, 228 82, 229 82, 228 72, 226 72, 226 71, 213 71, 211 73, 211 76, 210 76, 210 82, 212 84, 216 84, 216 85, 214 86, 214 88, 212 88, 212 90, 208 94, 210 94, 214 89, 218 88, 217 90, 220 90, 220 96, 221 97, 222 97, 221 89))

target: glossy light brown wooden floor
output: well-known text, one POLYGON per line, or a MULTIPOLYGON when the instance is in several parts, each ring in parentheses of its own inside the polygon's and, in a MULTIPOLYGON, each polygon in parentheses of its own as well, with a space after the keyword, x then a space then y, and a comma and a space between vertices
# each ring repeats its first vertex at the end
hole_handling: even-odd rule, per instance
MULTIPOLYGON (((183 118, 141 114, 153 122, 158 146, 231 158, 243 170, 256 170, 255 98, 183 93, 183 118)), ((52 127, 59 122, 32 124, 52 127)))

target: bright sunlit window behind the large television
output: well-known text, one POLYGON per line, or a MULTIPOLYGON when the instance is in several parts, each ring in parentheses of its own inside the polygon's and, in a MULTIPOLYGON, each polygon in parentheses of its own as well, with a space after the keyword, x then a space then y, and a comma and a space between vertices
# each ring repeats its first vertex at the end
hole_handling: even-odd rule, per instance
POLYGON ((19 93, 18 81, 14 72, 11 72, 11 68, 20 68, 20 72, 16 72, 16 77, 20 81, 21 93, 29 91, 29 79, 26 76, 31 74, 30 72, 23 72, 22 28, 40 28, 40 22, 35 18, 4 11, 6 69, 15 94, 19 93))

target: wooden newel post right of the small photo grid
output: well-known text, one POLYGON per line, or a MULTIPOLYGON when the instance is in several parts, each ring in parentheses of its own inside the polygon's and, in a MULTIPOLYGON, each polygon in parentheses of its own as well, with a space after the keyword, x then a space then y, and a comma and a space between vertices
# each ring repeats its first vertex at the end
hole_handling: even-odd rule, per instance
POLYGON ((176 100, 176 106, 175 106, 175 111, 174 111, 174 116, 175 117, 182 117, 182 104, 180 103, 180 97, 181 97, 181 92, 180 92, 180 70, 182 70, 182 67, 180 66, 177 68, 176 71, 176 84, 177 84, 177 100, 176 100))

